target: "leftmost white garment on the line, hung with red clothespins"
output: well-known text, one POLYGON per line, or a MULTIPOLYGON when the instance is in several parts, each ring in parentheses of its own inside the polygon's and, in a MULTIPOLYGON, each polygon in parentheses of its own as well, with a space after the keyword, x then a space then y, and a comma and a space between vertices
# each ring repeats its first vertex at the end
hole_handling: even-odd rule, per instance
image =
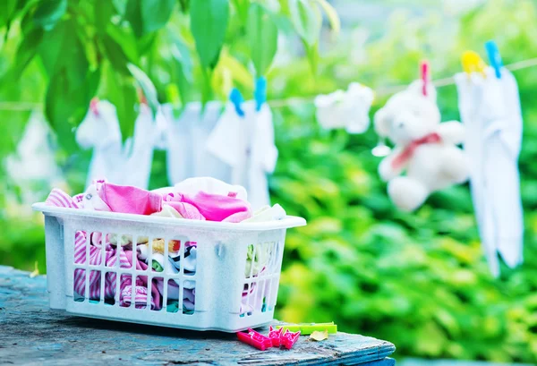
POLYGON ((98 101, 76 130, 81 148, 93 148, 86 187, 95 179, 106 178, 110 183, 147 189, 158 138, 155 127, 149 106, 141 105, 134 134, 122 144, 115 106, 106 100, 98 101))

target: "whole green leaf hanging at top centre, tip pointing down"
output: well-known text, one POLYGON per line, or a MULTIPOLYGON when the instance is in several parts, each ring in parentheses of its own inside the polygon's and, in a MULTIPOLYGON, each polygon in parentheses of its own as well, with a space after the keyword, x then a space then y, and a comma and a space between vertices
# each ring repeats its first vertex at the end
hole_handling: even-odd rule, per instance
POLYGON ((246 33, 250 42, 251 60, 260 77, 267 72, 277 51, 277 26, 265 7, 251 4, 246 33))

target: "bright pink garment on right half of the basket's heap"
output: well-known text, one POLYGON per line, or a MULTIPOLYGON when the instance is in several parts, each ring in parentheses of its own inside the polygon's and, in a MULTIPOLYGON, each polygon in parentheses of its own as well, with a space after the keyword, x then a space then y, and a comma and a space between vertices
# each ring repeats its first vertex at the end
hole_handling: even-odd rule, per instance
POLYGON ((251 217, 250 204, 233 196, 201 191, 195 195, 182 194, 180 200, 190 203, 209 221, 240 222, 251 217))

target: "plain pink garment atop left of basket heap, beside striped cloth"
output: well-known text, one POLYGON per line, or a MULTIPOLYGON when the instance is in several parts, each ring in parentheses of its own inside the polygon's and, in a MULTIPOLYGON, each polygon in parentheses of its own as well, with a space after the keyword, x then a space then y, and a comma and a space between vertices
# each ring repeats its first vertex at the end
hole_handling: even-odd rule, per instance
POLYGON ((162 210, 162 196, 130 185, 103 183, 99 197, 114 212, 150 215, 162 210))

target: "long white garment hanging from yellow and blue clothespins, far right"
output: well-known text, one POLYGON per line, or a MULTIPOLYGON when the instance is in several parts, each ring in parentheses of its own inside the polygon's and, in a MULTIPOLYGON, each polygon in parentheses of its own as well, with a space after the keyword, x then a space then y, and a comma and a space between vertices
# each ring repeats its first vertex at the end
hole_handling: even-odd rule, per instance
POLYGON ((515 77, 502 68, 456 75, 459 110, 466 127, 473 206, 492 275, 499 276, 499 253, 507 266, 523 261, 523 209, 518 155, 522 112, 515 77))

